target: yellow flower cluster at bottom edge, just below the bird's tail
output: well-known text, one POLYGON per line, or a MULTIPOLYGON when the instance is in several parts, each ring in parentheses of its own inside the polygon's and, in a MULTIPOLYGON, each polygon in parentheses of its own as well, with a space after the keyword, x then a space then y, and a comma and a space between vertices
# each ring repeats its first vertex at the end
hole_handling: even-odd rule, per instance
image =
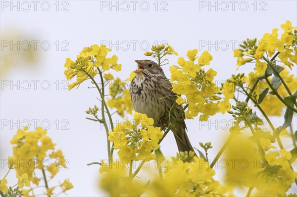
POLYGON ((226 190, 213 179, 214 174, 214 169, 202 158, 184 162, 172 157, 166 165, 164 178, 152 182, 149 196, 222 197, 226 190))

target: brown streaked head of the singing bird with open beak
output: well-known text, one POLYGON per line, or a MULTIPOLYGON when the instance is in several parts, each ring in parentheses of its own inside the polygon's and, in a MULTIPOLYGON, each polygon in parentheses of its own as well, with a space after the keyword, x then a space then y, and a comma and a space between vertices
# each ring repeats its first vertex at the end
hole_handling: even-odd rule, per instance
POLYGON ((138 69, 134 71, 137 75, 145 73, 147 75, 164 75, 162 68, 151 60, 135 60, 138 69))

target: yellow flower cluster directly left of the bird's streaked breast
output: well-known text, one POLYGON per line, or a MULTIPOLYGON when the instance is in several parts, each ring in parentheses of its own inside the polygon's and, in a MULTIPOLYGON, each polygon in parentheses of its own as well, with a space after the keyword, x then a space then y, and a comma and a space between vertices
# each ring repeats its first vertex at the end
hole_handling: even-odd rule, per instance
POLYGON ((107 98, 106 103, 111 109, 115 108, 122 118, 125 117, 126 113, 132 114, 133 111, 130 91, 127 86, 134 77, 135 73, 132 72, 130 78, 123 81, 117 78, 110 84, 109 93, 111 97, 107 98))

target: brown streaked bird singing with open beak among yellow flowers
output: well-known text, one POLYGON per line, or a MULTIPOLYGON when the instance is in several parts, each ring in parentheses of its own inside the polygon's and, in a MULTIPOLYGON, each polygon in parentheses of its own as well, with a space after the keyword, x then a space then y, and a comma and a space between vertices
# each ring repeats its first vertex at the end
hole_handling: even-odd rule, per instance
MULTIPOLYGON (((133 107, 136 112, 153 118, 154 126, 160 126, 164 121, 162 115, 169 112, 176 100, 176 93, 172 91, 172 84, 157 63, 151 60, 135 60, 135 62, 138 64, 138 69, 134 71, 136 76, 130 86, 133 107)), ((177 117, 181 110, 182 106, 177 105, 172 118, 177 117)), ((182 112, 182 116, 171 130, 179 151, 194 151, 186 129, 185 115, 182 112)))

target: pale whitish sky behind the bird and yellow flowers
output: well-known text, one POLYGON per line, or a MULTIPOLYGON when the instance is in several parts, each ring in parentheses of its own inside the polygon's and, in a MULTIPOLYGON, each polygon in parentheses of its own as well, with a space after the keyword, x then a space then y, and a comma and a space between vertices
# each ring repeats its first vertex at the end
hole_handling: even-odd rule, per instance
MULTIPOLYGON (((17 2, 13 1, 14 4, 17 2)), ((5 79, 1 79, 0 177, 7 172, 7 166, 2 166, 2 159, 12 155, 12 146, 9 141, 17 130, 16 125, 9 123, 4 126, 2 122, 6 119, 12 122, 28 119, 31 123, 29 130, 33 130, 34 119, 39 120, 38 125, 42 120, 49 121, 48 135, 57 144, 56 149, 61 149, 69 161, 67 165, 69 169, 60 170, 54 180, 62 181, 67 177, 70 178, 74 189, 67 192, 69 196, 104 196, 97 187, 99 166, 86 164, 107 158, 107 152, 103 126, 85 118, 87 117, 85 111, 89 107, 95 104, 99 106, 99 101, 96 99, 99 96, 97 90, 87 88, 92 86, 90 81, 85 81, 77 90, 73 89, 70 92, 61 90, 62 85, 65 84, 63 72, 67 57, 75 60, 84 46, 100 44, 100 41, 107 40, 108 43, 114 44, 113 46, 108 44, 112 49, 109 53, 110 57, 116 54, 119 58, 118 63, 122 64, 120 73, 112 72, 116 77, 126 79, 130 72, 136 69, 134 60, 148 59, 143 55, 150 49, 147 43, 152 45, 156 41, 159 43, 165 40, 174 47, 179 56, 185 57, 188 49, 198 48, 198 55, 204 50, 209 50, 213 61, 206 69, 213 68, 217 71, 218 75, 215 79, 218 81, 217 84, 220 84, 220 80, 228 79, 231 74, 238 73, 233 49, 238 48, 241 40, 261 39, 264 33, 271 33, 273 28, 279 28, 279 34, 281 34, 283 31, 280 25, 286 20, 290 20, 293 26, 297 24, 295 0, 235 1, 233 8, 232 1, 223 3, 211 1, 213 7, 209 7, 210 1, 198 0, 147 1, 147 3, 143 2, 142 6, 142 1, 136 1, 135 11, 131 1, 126 1, 130 6, 127 11, 124 11, 127 3, 121 4, 121 1, 112 1, 113 4, 118 3, 115 7, 110 7, 110 1, 68 0, 63 4, 59 1, 59 11, 56 11, 56 1, 49 1, 49 11, 42 10, 43 1, 37 4, 37 11, 34 11, 34 3, 28 2, 31 6, 29 11, 24 11, 28 4, 23 4, 22 7, 22 1, 19 1, 20 10, 18 11, 17 7, 11 7, 11 1, 1 1, 1 37, 10 35, 11 31, 14 31, 29 40, 38 40, 40 61, 34 69, 28 69, 22 65, 13 67, 5 79), (6 3, 9 4, 8 7, 6 3), (100 4, 107 4, 107 7, 100 7, 100 4), (148 11, 143 11, 147 8, 147 4, 148 11), (158 4, 157 11, 156 4, 158 4), (64 6, 67 6, 65 9, 68 11, 61 11, 64 6), (160 11, 163 6, 165 10, 160 11), (245 9, 247 10, 243 11, 245 9), (40 46, 40 43, 45 40, 50 43, 48 51, 42 50, 40 46), (59 50, 56 49, 57 40, 60 43, 59 50), (61 44, 63 40, 68 43, 66 46, 68 51, 61 50, 65 45, 65 42, 61 44), (232 42, 235 43, 235 48, 232 42), (127 46, 126 43, 129 45, 127 46), (203 46, 205 43, 206 46, 203 46), (209 44, 212 44, 210 48, 209 44), (2 86, 3 80, 8 80, 9 85, 2 86), (20 80, 20 90, 17 86, 10 84, 16 83, 17 80, 20 80), (21 82, 24 80, 31 81, 29 90, 22 89, 21 82), (32 80, 39 80, 36 90, 32 80), (49 80, 49 90, 41 88, 43 80, 49 80), (56 90, 55 81, 57 80, 59 90, 56 90), (58 129, 56 120, 59 121, 58 129), (62 120, 68 122, 66 125, 68 130, 62 129, 62 125, 65 124, 61 122, 62 120)), ((47 4, 43 6, 47 9, 47 4)), ((34 47, 33 44, 32 47, 34 47)), ((176 64, 178 56, 172 55, 168 58, 171 64, 176 64)), ((239 72, 248 73, 253 68, 254 64, 247 64, 242 66, 239 72)), ((163 69, 169 78, 169 65, 164 66, 163 69)), ((296 67, 292 72, 296 74, 296 67)), ((46 84, 44 83, 45 87, 46 84)), ((122 119, 118 116, 114 118, 122 119)), ((193 145, 199 147, 198 142, 210 141, 213 149, 209 151, 209 158, 214 158, 225 141, 223 136, 229 134, 228 129, 222 129, 220 125, 226 127, 225 123, 228 122, 231 126, 231 119, 229 114, 218 114, 210 118, 208 123, 199 122, 198 117, 195 120, 186 120, 193 145)), ((296 129, 296 117, 294 119, 294 129, 296 129)), ((272 118, 272 120, 276 127, 283 123, 283 117, 272 118)), ((45 123, 44 126, 47 127, 47 124, 45 123)), ((293 147, 291 141, 284 141, 284 146, 289 150, 293 147)), ((167 157, 174 156, 177 152, 171 133, 162 142, 161 150, 167 157)), ((217 173, 219 171, 223 172, 218 170, 217 173)), ((8 184, 14 185, 15 173, 9 173, 7 177, 8 184)), ((220 179, 221 176, 218 174, 216 178, 220 179)), ((296 193, 296 186, 292 188, 292 192, 296 193)))

